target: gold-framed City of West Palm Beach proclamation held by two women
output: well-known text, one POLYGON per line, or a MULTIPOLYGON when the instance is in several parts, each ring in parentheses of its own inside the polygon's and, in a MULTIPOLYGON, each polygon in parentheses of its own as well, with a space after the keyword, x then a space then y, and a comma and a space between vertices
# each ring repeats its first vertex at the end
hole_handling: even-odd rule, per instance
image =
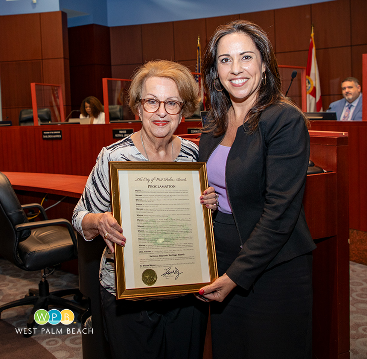
POLYGON ((218 278, 204 162, 109 162, 117 299, 199 291, 218 278))

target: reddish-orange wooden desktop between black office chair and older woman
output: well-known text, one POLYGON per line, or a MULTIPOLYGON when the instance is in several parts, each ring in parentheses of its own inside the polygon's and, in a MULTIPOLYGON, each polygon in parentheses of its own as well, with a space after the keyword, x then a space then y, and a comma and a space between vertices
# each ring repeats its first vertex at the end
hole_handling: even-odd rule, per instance
POLYGON ((14 189, 80 198, 88 176, 54 173, 3 172, 14 189))

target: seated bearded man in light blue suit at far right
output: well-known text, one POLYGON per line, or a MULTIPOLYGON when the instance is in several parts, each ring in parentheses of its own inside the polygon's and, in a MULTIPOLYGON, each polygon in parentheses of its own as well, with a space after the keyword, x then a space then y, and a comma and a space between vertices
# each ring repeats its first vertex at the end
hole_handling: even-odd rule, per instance
POLYGON ((331 102, 326 112, 336 112, 339 121, 362 121, 362 93, 359 81, 347 77, 342 81, 341 100, 331 102))

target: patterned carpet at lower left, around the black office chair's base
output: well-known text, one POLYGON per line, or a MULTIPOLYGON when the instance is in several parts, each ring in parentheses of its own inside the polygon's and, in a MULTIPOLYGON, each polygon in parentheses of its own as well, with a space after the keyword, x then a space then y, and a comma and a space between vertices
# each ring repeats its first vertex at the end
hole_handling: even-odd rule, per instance
MULTIPOLYGON (((29 288, 37 288, 40 276, 41 272, 26 272, 8 261, 0 259, 0 305, 24 297, 29 288)), ((78 287, 78 277, 63 271, 55 271, 47 280, 50 284, 50 291, 78 287)), ((26 328, 31 309, 32 306, 26 305, 6 309, 1 313, 0 348, 2 359, 83 358, 81 334, 77 333, 81 326, 76 319, 69 325, 61 323, 57 325, 36 324, 36 333, 31 338, 24 338, 23 334, 17 333, 16 328, 26 328), (4 348, 8 349, 8 356, 4 356, 4 348), (21 352, 26 355, 20 356, 21 352)))

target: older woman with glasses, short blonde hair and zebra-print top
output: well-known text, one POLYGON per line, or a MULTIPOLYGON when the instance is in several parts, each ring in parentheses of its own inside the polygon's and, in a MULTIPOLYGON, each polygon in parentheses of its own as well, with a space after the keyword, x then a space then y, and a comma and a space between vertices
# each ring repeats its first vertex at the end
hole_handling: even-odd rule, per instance
MULTIPOLYGON (((109 161, 196 162, 195 144, 175 136, 183 116, 199 104, 189 70, 171 61, 151 61, 134 75, 130 108, 140 131, 102 149, 73 213, 73 225, 86 239, 105 240, 101 259, 102 312, 113 358, 202 358, 208 304, 193 294, 151 301, 116 300, 114 244, 131 245, 111 214, 109 161)), ((214 195, 214 194, 213 194, 214 195)), ((214 201, 214 200, 213 200, 214 201)))

